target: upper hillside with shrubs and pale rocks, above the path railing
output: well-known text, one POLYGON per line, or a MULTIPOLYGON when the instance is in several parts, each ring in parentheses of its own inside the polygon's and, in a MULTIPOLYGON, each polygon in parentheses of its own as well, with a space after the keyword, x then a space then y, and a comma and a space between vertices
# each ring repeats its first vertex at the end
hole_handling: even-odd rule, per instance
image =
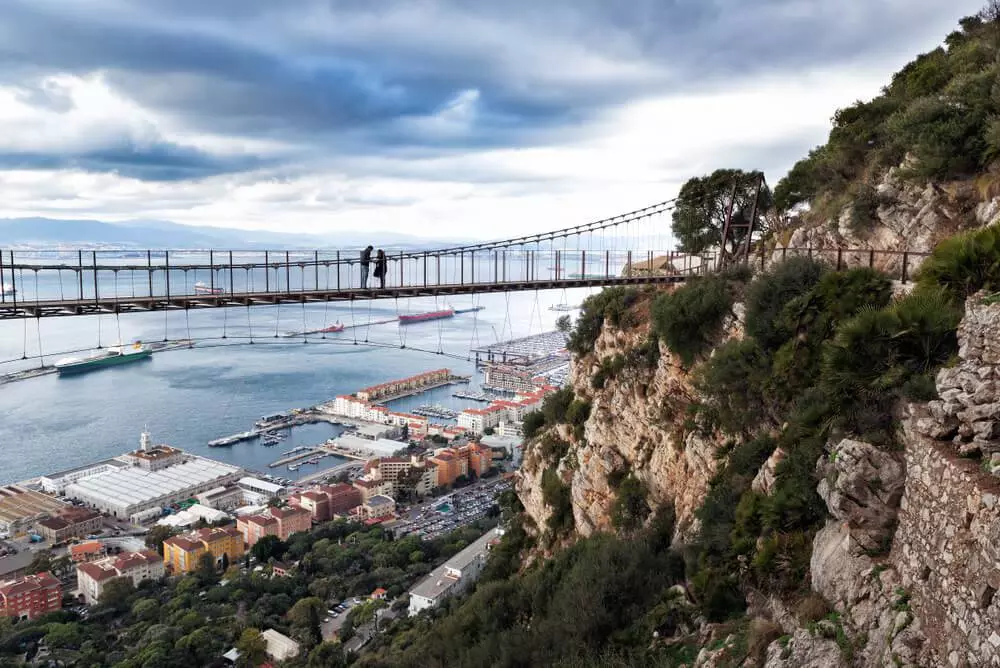
POLYGON ((991 3, 962 19, 881 95, 836 113, 827 143, 774 190, 778 210, 793 212, 776 230, 779 245, 926 252, 993 222, 1000 213, 998 10, 991 3), (801 204, 808 210, 798 211, 801 204))

